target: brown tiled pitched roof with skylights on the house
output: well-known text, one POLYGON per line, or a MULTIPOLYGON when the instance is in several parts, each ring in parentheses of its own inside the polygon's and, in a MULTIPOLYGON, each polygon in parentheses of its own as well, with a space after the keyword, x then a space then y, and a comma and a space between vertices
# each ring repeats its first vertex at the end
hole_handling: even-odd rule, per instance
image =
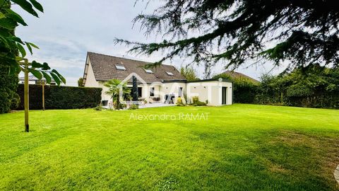
POLYGON ((174 66, 170 65, 161 64, 151 69, 153 74, 149 74, 143 69, 143 66, 152 64, 150 62, 113 57, 94 52, 88 52, 88 59, 90 60, 97 81, 108 81, 110 79, 124 80, 132 72, 138 74, 146 83, 185 79, 174 66), (126 70, 118 70, 116 65, 124 66, 126 70), (171 72, 173 76, 169 76, 166 72, 171 72))

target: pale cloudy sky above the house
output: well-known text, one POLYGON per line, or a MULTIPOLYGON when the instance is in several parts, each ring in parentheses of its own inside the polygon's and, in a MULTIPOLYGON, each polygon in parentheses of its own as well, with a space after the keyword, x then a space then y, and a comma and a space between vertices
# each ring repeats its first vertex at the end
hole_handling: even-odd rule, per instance
MULTIPOLYGON (((40 18, 30 16, 14 6, 14 10, 28 23, 28 26, 19 26, 16 35, 40 47, 40 50, 34 50, 30 59, 49 63, 51 68, 57 69, 66 78, 67 86, 77 86, 78 79, 83 76, 87 52, 147 62, 156 62, 162 57, 161 52, 150 56, 127 54, 129 47, 114 45, 115 37, 139 42, 161 40, 158 36, 146 38, 138 24, 133 27, 132 20, 139 13, 152 13, 160 6, 158 1, 150 1, 149 4, 146 2, 140 0, 135 4, 134 0, 40 0, 44 7, 40 18)), ((176 57, 165 64, 172 64, 179 69, 189 62, 189 59, 176 57)), ((202 78, 203 66, 196 66, 195 69, 202 78)), ((258 79, 271 69, 272 64, 266 63, 249 68, 243 66, 236 71, 258 79)), ((222 64, 213 68, 213 74, 222 71, 225 71, 222 64)), ((281 69, 273 69, 272 74, 280 71, 281 69)))

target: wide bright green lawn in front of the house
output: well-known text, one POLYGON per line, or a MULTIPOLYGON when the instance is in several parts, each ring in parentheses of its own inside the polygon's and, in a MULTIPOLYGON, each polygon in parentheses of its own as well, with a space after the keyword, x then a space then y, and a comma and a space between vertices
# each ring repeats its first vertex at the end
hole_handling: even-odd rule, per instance
POLYGON ((338 190, 339 110, 266 105, 0 115, 0 190, 338 190), (208 112, 208 120, 129 120, 208 112))

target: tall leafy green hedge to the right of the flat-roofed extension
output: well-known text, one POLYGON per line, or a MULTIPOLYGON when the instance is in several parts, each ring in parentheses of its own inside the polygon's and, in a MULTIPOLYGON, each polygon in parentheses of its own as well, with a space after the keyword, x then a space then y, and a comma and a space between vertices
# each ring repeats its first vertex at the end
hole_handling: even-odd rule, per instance
POLYGON ((339 108, 339 68, 310 64, 288 74, 263 76, 258 104, 305 108, 339 108))

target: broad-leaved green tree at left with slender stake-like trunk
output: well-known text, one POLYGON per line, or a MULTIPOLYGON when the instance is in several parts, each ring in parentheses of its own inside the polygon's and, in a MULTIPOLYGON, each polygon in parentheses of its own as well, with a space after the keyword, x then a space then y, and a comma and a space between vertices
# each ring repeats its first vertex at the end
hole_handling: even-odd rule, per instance
POLYGON ((25 47, 30 54, 33 54, 33 48, 38 49, 39 47, 32 42, 24 42, 15 35, 14 30, 19 24, 24 26, 27 26, 27 24, 18 13, 11 9, 12 3, 17 4, 36 17, 38 17, 37 11, 43 12, 44 9, 35 0, 0 0, 0 63, 6 66, 1 69, 5 69, 10 75, 17 75, 20 71, 25 74, 25 132, 29 132, 28 74, 33 74, 37 79, 44 77, 47 83, 54 79, 58 85, 61 82, 66 83, 66 80, 55 69, 50 70, 51 68, 47 63, 41 64, 34 60, 28 62, 28 59, 25 58, 27 54, 25 47))

